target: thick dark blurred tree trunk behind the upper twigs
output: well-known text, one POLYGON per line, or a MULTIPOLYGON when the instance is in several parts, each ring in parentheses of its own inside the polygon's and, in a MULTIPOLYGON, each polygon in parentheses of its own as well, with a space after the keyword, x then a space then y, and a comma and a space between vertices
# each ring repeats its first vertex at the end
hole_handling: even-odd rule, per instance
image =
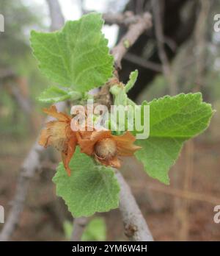
MULTIPOLYGON (((199 1, 197 0, 160 0, 163 9, 161 10, 161 20, 164 32, 164 49, 166 55, 171 61, 177 54, 179 47, 188 40, 197 20, 197 10, 199 8, 199 1)), ((150 11, 152 8, 150 0, 130 0, 125 7, 125 11, 132 11, 135 14, 150 11)), ((125 28, 120 29, 119 37, 125 34, 125 28)), ((157 42, 155 39, 154 27, 150 32, 145 32, 139 40, 129 50, 131 54, 142 57, 144 60, 150 60, 153 63, 160 64, 161 60, 158 54, 157 42)), ((150 84, 158 71, 144 68, 142 65, 132 63, 132 58, 124 58, 122 61, 122 71, 120 71, 120 78, 123 82, 128 80, 129 74, 134 69, 139 70, 139 78, 136 86, 130 91, 130 97, 135 99, 139 93, 150 84), (129 60, 128 60, 129 59, 129 60)))

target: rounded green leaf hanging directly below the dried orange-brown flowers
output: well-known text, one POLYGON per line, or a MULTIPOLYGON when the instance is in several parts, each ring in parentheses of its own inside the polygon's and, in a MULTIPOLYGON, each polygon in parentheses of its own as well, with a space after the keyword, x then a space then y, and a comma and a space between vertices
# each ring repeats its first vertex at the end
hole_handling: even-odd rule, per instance
POLYGON ((74 217, 91 216, 117 208, 120 187, 112 168, 95 164, 91 157, 79 149, 70 161, 68 177, 62 163, 54 176, 56 194, 62 196, 74 217))

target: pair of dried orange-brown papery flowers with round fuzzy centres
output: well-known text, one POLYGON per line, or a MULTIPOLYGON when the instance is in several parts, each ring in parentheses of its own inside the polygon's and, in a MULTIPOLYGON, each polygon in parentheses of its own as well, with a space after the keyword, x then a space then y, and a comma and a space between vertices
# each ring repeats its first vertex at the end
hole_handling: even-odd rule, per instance
POLYGON ((55 106, 43 110, 53 116, 57 121, 49 121, 40 134, 39 143, 45 148, 54 146, 62 154, 62 162, 67 174, 70 175, 69 163, 73 157, 76 146, 81 152, 94 157, 99 163, 105 166, 120 168, 120 156, 131 156, 140 149, 133 144, 136 140, 131 132, 123 135, 112 135, 110 130, 96 131, 73 131, 70 127, 72 118, 65 113, 59 113, 55 106))

